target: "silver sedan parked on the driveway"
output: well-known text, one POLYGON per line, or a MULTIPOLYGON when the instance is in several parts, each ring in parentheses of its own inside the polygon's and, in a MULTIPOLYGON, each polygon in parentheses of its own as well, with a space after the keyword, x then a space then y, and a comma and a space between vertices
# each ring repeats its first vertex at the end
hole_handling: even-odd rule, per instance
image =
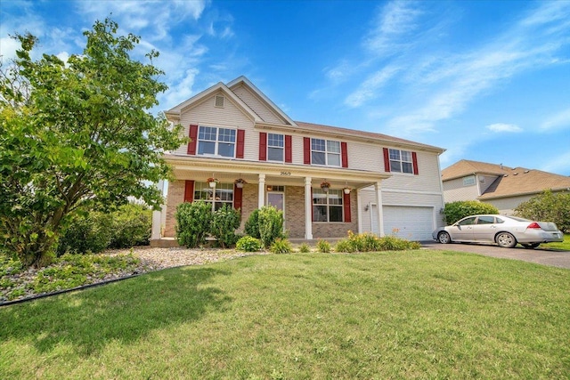
POLYGON ((496 243, 512 248, 519 243, 536 248, 541 243, 564 241, 564 235, 553 222, 533 222, 515 216, 471 215, 433 231, 432 238, 442 244, 456 242, 496 243))

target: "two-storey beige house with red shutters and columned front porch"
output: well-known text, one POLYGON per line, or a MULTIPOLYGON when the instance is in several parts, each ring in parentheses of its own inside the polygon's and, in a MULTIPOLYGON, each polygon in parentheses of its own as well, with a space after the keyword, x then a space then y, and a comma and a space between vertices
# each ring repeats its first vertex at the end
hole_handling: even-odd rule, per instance
POLYGON ((348 230, 431 239, 442 224, 441 148, 293 121, 246 77, 213 85, 166 116, 191 142, 165 154, 175 181, 153 215, 155 246, 175 237, 176 206, 196 200, 240 209, 241 228, 256 208, 276 206, 289 239, 344 238, 348 230))

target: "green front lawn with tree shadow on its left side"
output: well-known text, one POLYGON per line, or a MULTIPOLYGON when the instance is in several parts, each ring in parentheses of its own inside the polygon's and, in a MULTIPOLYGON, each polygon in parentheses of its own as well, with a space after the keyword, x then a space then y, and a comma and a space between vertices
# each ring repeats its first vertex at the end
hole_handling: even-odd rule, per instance
POLYGON ((0 378, 567 378, 570 271, 256 255, 0 308, 0 378))

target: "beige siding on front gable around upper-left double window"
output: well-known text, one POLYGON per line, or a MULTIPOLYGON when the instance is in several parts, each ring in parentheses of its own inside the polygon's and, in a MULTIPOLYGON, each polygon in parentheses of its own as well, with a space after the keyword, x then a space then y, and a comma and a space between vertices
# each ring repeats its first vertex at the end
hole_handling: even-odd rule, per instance
MULTIPOLYGON (((244 159, 257 159, 259 157, 257 153, 259 134, 254 130, 253 120, 227 96, 225 97, 224 108, 216 107, 214 105, 216 94, 221 93, 213 93, 181 115, 180 124, 184 127, 184 135, 188 136, 190 125, 244 129, 246 131, 244 159)), ((187 149, 187 145, 183 145, 175 150, 175 154, 186 155, 187 149)))

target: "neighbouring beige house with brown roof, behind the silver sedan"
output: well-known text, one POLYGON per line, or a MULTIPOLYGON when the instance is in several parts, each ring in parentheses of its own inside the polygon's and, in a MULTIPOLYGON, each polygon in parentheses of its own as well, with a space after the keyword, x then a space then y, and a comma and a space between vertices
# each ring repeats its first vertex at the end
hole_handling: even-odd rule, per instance
POLYGON ((479 200, 513 214, 519 204, 544 190, 570 190, 570 177, 462 159, 442 170, 445 203, 479 200))

